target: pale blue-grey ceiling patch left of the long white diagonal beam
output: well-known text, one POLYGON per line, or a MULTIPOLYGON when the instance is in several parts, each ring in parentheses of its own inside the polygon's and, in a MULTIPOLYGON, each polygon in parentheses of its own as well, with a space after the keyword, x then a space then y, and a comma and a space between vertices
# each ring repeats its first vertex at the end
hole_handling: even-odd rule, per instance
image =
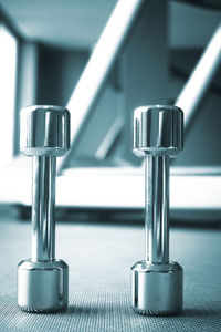
POLYGON ((0 0, 29 39, 64 48, 96 43, 116 0, 0 0))

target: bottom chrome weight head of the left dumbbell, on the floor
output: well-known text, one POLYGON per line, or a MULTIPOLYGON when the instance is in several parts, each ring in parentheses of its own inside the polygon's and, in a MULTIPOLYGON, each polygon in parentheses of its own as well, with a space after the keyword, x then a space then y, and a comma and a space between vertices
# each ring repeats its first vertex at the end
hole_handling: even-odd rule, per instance
POLYGON ((63 260, 19 263, 18 304, 23 311, 61 311, 67 302, 69 267, 63 260))

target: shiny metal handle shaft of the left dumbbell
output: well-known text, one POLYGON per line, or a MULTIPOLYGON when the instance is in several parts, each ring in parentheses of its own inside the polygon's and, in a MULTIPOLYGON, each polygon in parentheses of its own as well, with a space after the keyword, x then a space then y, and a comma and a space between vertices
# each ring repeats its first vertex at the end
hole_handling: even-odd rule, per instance
POLYGON ((33 156, 32 261, 55 259, 55 156, 33 156))

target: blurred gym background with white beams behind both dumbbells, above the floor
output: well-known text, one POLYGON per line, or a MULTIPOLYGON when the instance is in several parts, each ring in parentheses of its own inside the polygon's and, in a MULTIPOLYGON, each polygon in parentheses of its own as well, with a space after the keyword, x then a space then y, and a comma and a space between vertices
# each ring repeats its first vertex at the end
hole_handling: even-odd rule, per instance
POLYGON ((215 0, 1 0, 1 208, 30 215, 31 160, 19 154, 19 111, 55 104, 71 112, 73 141, 59 164, 60 218, 143 220, 143 160, 130 149, 133 110, 177 104, 188 122, 185 151, 171 163, 171 218, 220 221, 220 42, 215 59, 209 55, 197 72, 197 102, 187 110, 183 102, 192 97, 185 87, 220 33, 220 20, 215 0))

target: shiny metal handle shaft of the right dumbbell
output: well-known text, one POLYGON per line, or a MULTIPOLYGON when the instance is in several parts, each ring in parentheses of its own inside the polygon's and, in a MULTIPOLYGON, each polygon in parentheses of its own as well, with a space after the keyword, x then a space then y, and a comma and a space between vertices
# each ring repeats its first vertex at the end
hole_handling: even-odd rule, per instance
POLYGON ((169 262, 169 157, 145 158, 146 260, 169 262))

